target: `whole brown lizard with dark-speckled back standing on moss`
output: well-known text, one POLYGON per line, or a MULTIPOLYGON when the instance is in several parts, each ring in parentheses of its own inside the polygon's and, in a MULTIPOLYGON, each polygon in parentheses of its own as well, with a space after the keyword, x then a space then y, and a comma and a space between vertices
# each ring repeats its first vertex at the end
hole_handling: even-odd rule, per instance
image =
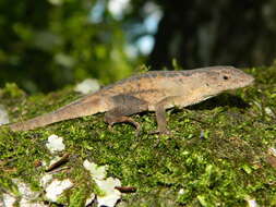
POLYGON ((10 125, 13 131, 33 130, 62 120, 106 112, 112 125, 130 122, 129 115, 155 111, 157 132, 166 133, 166 109, 201 102, 228 89, 250 85, 254 78, 233 66, 211 66, 190 71, 151 71, 119 81, 53 112, 10 125))

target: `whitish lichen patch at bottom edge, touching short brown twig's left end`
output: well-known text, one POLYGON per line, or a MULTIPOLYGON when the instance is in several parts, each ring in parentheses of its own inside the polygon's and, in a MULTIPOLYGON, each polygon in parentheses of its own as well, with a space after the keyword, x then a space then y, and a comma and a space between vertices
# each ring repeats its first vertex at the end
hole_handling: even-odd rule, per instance
POLYGON ((106 180, 95 180, 95 182, 104 194, 103 196, 97 196, 98 206, 115 206, 121 198, 121 192, 115 188, 116 186, 121 186, 120 180, 108 178, 106 180))

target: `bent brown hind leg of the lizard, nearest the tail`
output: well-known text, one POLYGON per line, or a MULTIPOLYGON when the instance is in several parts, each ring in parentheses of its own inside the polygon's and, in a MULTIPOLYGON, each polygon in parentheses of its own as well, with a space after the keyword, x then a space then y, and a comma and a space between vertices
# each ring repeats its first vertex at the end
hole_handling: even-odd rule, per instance
POLYGON ((136 127, 136 135, 139 135, 140 124, 128 115, 146 111, 148 109, 147 102, 131 95, 113 96, 111 100, 115 107, 105 114, 105 121, 109 127, 116 123, 131 123, 136 127))

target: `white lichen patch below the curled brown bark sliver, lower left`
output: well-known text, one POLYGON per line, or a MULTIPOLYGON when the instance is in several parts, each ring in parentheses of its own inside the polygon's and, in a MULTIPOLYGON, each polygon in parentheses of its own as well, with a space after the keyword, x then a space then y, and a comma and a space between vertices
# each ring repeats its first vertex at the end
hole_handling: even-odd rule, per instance
POLYGON ((53 180, 46 187, 46 197, 51 202, 57 202, 58 197, 63 193, 63 191, 72 186, 73 183, 69 179, 63 181, 53 180))

